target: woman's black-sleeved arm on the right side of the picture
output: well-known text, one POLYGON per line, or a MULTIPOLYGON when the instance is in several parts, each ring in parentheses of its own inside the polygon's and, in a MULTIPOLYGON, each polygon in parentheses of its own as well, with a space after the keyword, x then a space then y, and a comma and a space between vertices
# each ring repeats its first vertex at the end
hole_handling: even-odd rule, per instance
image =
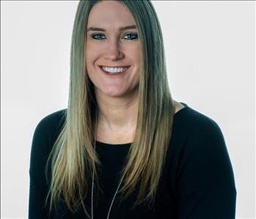
POLYGON ((222 131, 213 120, 198 127, 178 171, 179 219, 235 219, 235 180, 222 131))

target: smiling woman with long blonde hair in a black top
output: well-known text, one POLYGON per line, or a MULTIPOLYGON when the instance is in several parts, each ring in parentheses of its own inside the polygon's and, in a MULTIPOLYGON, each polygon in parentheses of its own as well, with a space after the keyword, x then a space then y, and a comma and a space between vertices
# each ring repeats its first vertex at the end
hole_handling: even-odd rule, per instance
POLYGON ((213 119, 172 100, 150 1, 80 1, 67 109, 37 125, 29 218, 235 218, 213 119))

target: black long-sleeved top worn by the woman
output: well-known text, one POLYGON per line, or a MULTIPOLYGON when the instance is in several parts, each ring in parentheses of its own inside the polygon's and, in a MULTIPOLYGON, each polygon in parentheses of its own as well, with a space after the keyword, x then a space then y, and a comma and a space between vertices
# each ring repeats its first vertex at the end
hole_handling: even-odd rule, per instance
MULTIPOLYGON (((135 196, 120 206, 116 196, 109 219, 235 219, 236 188, 232 164, 222 130, 213 119, 190 108, 178 111, 173 120, 172 138, 167 152, 167 163, 158 186, 153 209, 147 205, 129 210, 135 196)), ((81 210, 73 215, 67 207, 59 207, 51 217, 43 207, 48 184, 45 162, 63 124, 63 112, 45 116, 36 129, 30 157, 29 219, 87 218, 81 210)), ((104 193, 94 196, 93 216, 103 219, 108 215, 111 200, 120 178, 117 173, 131 143, 105 144, 96 141, 96 152, 103 163, 100 185, 104 193)), ((91 185, 90 185, 91 186, 91 185)), ((88 192, 87 211, 91 214, 91 190, 88 192)))

